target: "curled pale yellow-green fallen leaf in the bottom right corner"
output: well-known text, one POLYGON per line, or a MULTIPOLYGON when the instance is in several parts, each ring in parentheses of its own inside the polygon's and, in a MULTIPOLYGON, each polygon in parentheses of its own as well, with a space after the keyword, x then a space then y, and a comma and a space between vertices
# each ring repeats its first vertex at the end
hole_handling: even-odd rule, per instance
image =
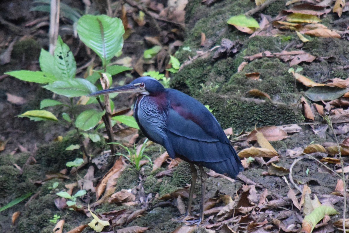
POLYGON ((305 225, 312 227, 311 231, 313 231, 315 225, 325 217, 325 215, 336 215, 339 212, 333 209, 331 206, 321 205, 315 208, 309 215, 306 215, 302 222, 302 229, 305 225))

